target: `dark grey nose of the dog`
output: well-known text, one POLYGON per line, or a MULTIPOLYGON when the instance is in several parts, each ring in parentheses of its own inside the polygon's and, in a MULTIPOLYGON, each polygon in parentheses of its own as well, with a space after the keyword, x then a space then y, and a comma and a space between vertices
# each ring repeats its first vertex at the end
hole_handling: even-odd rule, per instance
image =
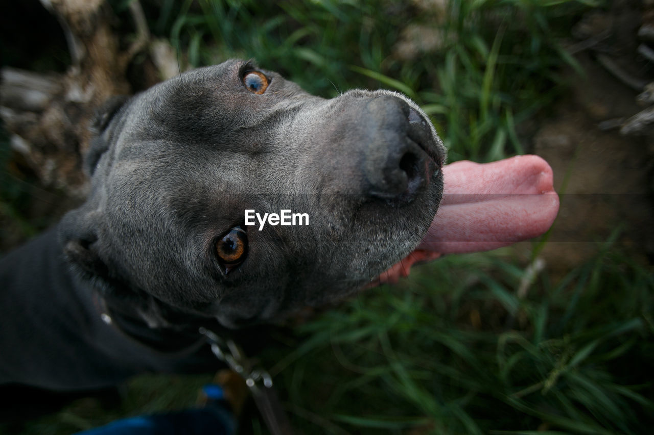
POLYGON ((428 127, 422 125, 426 124, 422 117, 399 98, 376 97, 366 110, 365 193, 387 201, 411 201, 426 178, 428 157, 420 138, 431 132, 423 131, 428 127))

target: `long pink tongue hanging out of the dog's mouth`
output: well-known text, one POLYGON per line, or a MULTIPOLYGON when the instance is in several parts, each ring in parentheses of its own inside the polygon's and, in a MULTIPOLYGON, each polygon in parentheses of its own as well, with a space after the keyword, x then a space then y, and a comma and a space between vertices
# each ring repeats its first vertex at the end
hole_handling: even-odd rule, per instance
POLYGON ((406 276, 417 261, 443 253, 487 251, 539 236, 559 212, 552 169, 537 155, 443 167, 443 201, 418 248, 380 282, 406 276))

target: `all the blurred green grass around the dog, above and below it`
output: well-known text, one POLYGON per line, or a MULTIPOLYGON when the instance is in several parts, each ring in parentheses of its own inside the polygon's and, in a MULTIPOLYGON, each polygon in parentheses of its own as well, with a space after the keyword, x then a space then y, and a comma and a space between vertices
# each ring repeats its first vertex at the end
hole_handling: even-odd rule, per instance
MULTIPOLYGON (((119 17, 128 3, 112 3, 119 17)), ((602 5, 144 2, 152 33, 171 42, 181 69, 245 57, 324 97, 355 87, 402 91, 430 114, 449 161, 528 151, 521 126, 568 89, 562 70, 577 68, 561 38, 602 5)), ((20 221, 21 187, 1 181, 0 205, 20 221)), ((25 221, 26 234, 34 227, 25 221)), ((650 433, 654 278, 617 235, 557 276, 534 272, 547 235, 526 251, 445 257, 303 325, 262 364, 307 434, 650 433)), ((75 402, 24 433, 191 406, 209 379, 138 378, 120 406, 75 402)), ((256 417, 244 431, 266 433, 256 417)))

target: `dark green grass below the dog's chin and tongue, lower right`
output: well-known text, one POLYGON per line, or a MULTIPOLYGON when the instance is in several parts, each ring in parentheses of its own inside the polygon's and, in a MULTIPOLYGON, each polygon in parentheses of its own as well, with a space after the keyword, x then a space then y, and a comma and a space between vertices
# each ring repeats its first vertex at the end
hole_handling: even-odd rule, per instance
POLYGON ((447 257, 306 325, 275 365, 306 432, 316 414, 349 433, 645 433, 651 271, 607 246, 521 298, 511 251, 447 257))

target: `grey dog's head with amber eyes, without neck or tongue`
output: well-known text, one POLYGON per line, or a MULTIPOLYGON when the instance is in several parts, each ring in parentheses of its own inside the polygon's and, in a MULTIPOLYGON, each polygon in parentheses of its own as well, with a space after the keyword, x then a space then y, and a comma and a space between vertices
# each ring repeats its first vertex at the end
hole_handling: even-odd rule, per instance
POLYGON ((415 249, 442 192, 445 150, 406 97, 322 99, 243 61, 110 105, 95 129, 65 254, 151 319, 237 327, 341 299, 415 249))

